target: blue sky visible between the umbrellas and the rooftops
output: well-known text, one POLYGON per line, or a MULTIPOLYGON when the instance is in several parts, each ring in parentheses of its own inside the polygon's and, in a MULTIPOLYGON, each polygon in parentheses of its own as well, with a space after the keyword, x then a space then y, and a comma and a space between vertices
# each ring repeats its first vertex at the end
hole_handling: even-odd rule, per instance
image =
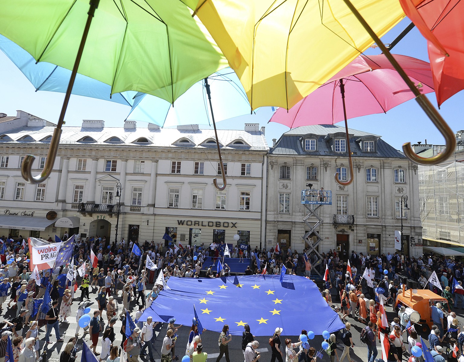
MULTIPOLYGON (((410 21, 407 18, 401 21, 382 39, 384 43, 392 41, 409 23, 410 21)), ((380 51, 378 48, 369 49, 366 53, 379 54, 380 51)), ((394 47, 393 53, 409 55, 428 61, 426 41, 416 28, 412 29, 394 47)), ((428 96, 436 106, 435 93, 430 93, 428 96)), ((34 87, 26 77, 0 51, 0 112, 14 116, 16 110, 22 110, 56 123, 63 98, 64 94, 62 93, 35 92, 34 87)), ((439 111, 455 132, 464 129, 461 116, 463 100, 463 92, 458 92, 451 99, 445 101, 439 111)), ((81 125, 83 119, 103 119, 106 126, 118 127, 123 125, 123 120, 128 112, 128 107, 113 102, 72 96, 65 121, 66 125, 81 125)), ((260 126, 266 127, 266 138, 269 145, 272 145, 272 138, 278 139, 289 128, 276 123, 268 124, 271 115, 271 110, 266 107, 258 110, 256 115, 246 115, 221 121, 217 125, 218 128, 222 129, 243 129, 245 122, 260 123, 260 126)), ((187 123, 196 123, 194 117, 187 123)), ((139 123, 139 125, 144 126, 142 123, 139 123)), ((343 126, 343 122, 337 125, 343 126)), ((425 139, 427 139, 427 143, 443 144, 443 137, 414 100, 393 108, 387 114, 349 119, 348 126, 378 134, 397 149, 401 149, 401 145, 405 142, 414 144, 417 141, 424 142, 425 139)))

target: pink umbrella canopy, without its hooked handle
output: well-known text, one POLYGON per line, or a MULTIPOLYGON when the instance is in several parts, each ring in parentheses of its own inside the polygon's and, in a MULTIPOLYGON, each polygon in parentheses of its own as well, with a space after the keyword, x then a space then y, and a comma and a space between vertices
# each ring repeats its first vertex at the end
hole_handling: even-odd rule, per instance
MULTIPOLYGON (((433 92, 430 64, 405 55, 394 55, 421 93, 433 92)), ((345 86, 346 117, 383 113, 415 98, 384 55, 360 55, 288 112, 279 108, 269 122, 290 128, 334 124, 344 120, 340 79, 345 86)))

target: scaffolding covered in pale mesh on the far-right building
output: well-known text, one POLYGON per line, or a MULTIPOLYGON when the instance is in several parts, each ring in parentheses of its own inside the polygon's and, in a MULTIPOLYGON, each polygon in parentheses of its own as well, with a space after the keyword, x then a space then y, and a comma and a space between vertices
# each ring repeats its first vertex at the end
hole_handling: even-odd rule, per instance
POLYGON ((464 244, 464 165, 419 166, 423 238, 464 244))

